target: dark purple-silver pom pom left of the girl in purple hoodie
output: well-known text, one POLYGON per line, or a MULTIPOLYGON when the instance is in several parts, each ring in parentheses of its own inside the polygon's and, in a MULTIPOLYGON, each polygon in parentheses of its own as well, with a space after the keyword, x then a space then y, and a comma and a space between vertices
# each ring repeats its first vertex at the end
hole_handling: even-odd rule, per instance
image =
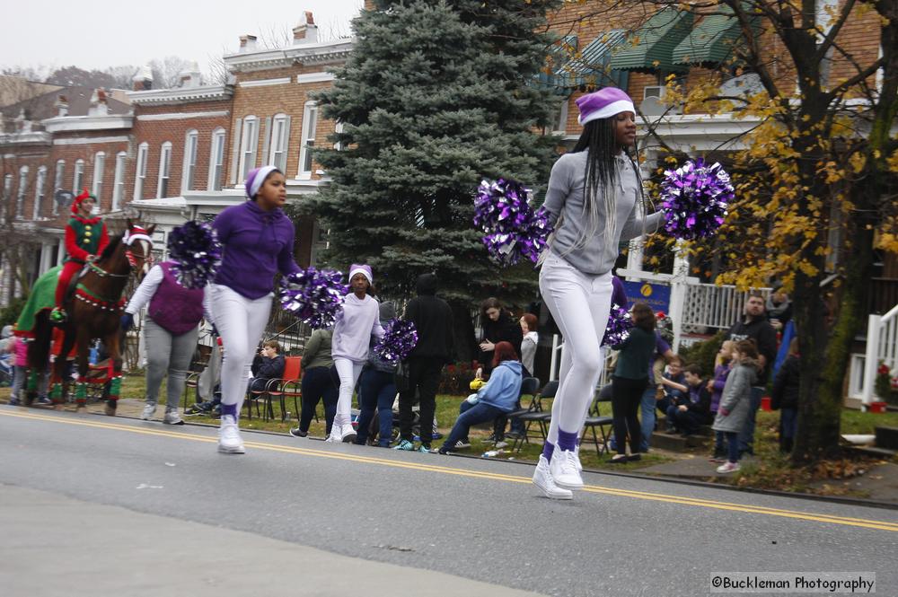
POLYGON ((216 276, 222 262, 222 245, 212 224, 193 220, 169 233, 172 275, 185 288, 202 288, 216 276))

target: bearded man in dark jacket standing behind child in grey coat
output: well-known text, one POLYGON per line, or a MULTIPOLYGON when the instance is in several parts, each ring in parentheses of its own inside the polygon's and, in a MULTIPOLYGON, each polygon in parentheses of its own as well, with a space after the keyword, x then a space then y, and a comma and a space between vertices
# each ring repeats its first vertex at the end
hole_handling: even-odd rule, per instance
POLYGON ((758 363, 761 365, 760 373, 755 376, 750 397, 748 417, 744 419, 745 426, 739 434, 739 452, 754 454, 754 420, 761 408, 761 398, 767 382, 770 380, 770 369, 773 360, 777 356, 777 332, 770 325, 770 321, 764 314, 764 298, 762 294, 753 292, 745 302, 745 313, 742 320, 726 332, 726 339, 738 342, 740 340, 754 340, 757 347, 758 363))

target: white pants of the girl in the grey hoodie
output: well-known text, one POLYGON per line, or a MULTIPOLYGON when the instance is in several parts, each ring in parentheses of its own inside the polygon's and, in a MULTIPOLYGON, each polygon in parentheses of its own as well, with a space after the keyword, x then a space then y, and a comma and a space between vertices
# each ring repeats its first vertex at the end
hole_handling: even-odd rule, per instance
POLYGON ((540 271, 540 293, 565 342, 548 437, 557 443, 559 427, 580 432, 602 373, 601 343, 612 308, 612 273, 589 276, 550 254, 540 271))

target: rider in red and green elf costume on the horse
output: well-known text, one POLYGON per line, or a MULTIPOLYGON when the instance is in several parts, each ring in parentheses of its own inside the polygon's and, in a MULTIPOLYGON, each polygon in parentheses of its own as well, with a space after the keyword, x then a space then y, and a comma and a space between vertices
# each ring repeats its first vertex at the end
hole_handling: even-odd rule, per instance
POLYGON ((72 202, 72 217, 66 224, 66 262, 59 272, 56 289, 56 307, 50 312, 50 320, 63 323, 67 319, 63 303, 66 290, 72 277, 84 268, 84 264, 93 261, 109 244, 109 234, 101 216, 92 215, 97 198, 84 189, 81 195, 72 202))

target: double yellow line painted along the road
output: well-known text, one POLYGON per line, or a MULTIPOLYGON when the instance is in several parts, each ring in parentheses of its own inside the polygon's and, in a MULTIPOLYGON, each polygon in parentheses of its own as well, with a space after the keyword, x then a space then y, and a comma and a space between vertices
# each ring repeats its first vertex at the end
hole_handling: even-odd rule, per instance
MULTIPOLYGON (((207 443, 215 443, 217 442, 216 437, 209 437, 205 435, 195 435, 185 432, 179 431, 170 431, 167 429, 149 429, 143 427, 135 427, 122 425, 119 423, 106 423, 101 421, 91 421, 81 418, 67 418, 67 417, 54 417, 48 415, 41 415, 39 413, 34 412, 17 412, 17 411, 9 411, 6 409, 0 410, 0 415, 4 417, 17 417, 17 418, 25 418, 37 421, 50 421, 53 423, 62 423, 66 425, 75 425, 75 426, 87 426, 87 427, 95 427, 99 429, 110 429, 115 431, 125 431, 128 433, 134 434, 142 434, 142 435, 158 435, 163 437, 174 437, 178 439, 186 439, 194 442, 207 442, 207 443)), ((381 466, 389 466, 397 469, 407 469, 407 470, 421 470, 426 472, 436 472, 444 475, 458 475, 462 477, 471 477, 471 478, 486 478, 490 480, 497 481, 505 481, 510 483, 525 483, 529 484, 531 482, 530 477, 520 477, 516 475, 506 475, 502 473, 495 472, 487 472, 480 470, 465 470, 465 469, 454 469, 452 467, 439 466, 435 464, 426 464, 421 462, 403 462, 403 461, 392 461, 384 458, 376 458, 372 456, 364 456, 358 454, 344 454, 339 452, 324 452, 321 450, 313 450, 310 448, 302 448, 302 447, 293 447, 293 446, 284 446, 277 445, 276 443, 263 443, 263 442, 254 442, 244 441, 244 444, 250 448, 256 448, 259 450, 268 450, 269 452, 284 452, 291 454, 301 454, 304 456, 314 456, 316 458, 330 458, 334 460, 340 461, 353 461, 353 462, 363 462, 366 464, 377 464, 381 466)), ((644 491, 633 491, 629 489, 617 489, 613 487, 602 487, 596 485, 587 485, 583 489, 587 493, 595 493, 595 494, 604 494, 608 496, 619 496, 619 497, 630 497, 636 499, 645 499, 652 500, 656 502, 666 502, 670 504, 680 504, 680 505, 691 505, 691 506, 699 506, 704 508, 713 508, 717 510, 727 510, 733 512, 743 512, 746 514, 764 514, 768 516, 779 516, 783 518, 793 518, 797 520, 806 520, 813 522, 826 522, 830 524, 841 524, 846 526, 855 526, 865 529, 876 529, 879 531, 898 531, 898 522, 886 522, 886 521, 875 521, 868 520, 864 518, 850 518, 845 516, 834 516, 831 514, 808 514, 803 512, 797 512, 794 510, 783 510, 779 508, 770 508, 767 506, 761 505, 742 505, 735 504, 730 502, 718 502, 715 500, 702 499, 698 497, 686 497, 686 496, 670 496, 666 494, 657 494, 650 493, 644 491)))

